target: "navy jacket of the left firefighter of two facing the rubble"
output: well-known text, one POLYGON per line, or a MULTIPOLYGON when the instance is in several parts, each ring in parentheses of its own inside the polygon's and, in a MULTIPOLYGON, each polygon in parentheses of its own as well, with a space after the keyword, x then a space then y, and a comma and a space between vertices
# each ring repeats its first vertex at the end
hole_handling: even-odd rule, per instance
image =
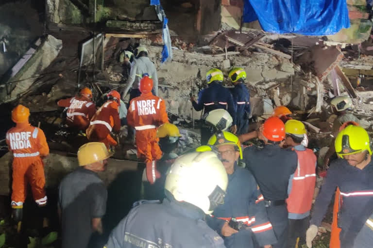
POLYGON ((235 104, 232 93, 219 82, 210 83, 207 88, 198 94, 198 103, 192 101, 192 105, 196 111, 204 108, 205 114, 214 109, 227 109, 233 118, 233 125, 236 124, 235 104))

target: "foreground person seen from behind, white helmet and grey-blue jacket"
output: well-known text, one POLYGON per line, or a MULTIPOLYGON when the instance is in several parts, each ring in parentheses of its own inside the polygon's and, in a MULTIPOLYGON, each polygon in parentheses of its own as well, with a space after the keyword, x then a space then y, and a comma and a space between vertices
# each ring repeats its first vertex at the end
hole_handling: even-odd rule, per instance
POLYGON ((110 234, 106 248, 224 248, 206 214, 223 202, 227 173, 214 152, 178 157, 166 177, 167 198, 141 201, 110 234))

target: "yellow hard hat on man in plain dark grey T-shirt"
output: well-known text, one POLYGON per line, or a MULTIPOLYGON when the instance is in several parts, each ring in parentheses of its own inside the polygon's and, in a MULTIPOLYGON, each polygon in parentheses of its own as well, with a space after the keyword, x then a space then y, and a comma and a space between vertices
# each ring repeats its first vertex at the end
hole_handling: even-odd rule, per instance
POLYGON ((102 161, 111 157, 113 154, 114 153, 109 153, 109 151, 107 151, 105 144, 102 142, 86 143, 79 147, 78 150, 79 166, 85 166, 102 161))

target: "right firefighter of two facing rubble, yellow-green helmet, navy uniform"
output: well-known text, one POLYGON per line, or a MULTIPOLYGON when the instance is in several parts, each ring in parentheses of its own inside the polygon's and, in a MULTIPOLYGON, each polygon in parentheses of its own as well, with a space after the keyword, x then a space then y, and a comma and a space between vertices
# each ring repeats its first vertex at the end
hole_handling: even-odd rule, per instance
POLYGON ((237 135, 245 134, 249 128, 250 118, 250 92, 244 84, 246 72, 242 67, 233 68, 228 77, 235 86, 231 89, 235 104, 237 135))

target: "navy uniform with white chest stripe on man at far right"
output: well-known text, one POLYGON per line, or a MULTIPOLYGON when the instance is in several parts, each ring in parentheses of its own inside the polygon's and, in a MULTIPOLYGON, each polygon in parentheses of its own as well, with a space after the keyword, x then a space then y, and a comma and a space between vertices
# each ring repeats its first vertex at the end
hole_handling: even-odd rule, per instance
MULTIPOLYGON (((310 223, 320 226, 330 200, 338 186, 341 197, 338 218, 338 226, 341 228, 339 236, 340 247, 357 248, 354 245, 354 241, 355 243, 358 242, 355 240, 356 236, 373 212, 372 178, 373 158, 363 170, 350 166, 345 159, 334 160, 330 165, 320 194, 315 202, 310 223)), ((372 247, 372 244, 368 247, 372 247)))

